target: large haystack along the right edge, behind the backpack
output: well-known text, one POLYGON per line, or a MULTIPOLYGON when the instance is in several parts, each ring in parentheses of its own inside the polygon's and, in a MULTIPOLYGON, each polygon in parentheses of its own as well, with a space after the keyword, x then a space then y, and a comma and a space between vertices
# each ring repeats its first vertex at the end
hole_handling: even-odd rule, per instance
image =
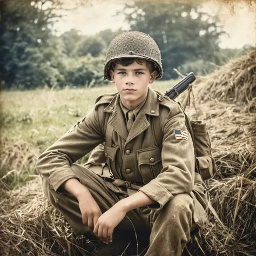
POLYGON ((206 255, 256 255, 256 49, 193 87, 188 112, 208 126, 218 170, 207 186, 223 222, 212 217, 197 242, 206 255))

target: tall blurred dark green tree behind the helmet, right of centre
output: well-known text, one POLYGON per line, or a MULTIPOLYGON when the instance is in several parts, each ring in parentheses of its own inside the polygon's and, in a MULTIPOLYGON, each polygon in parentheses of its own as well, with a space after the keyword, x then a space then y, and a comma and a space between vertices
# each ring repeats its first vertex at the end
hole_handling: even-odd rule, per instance
POLYGON ((223 33, 217 18, 198 3, 134 1, 125 5, 131 30, 149 34, 157 42, 164 79, 176 77, 173 68, 196 59, 212 61, 223 33))

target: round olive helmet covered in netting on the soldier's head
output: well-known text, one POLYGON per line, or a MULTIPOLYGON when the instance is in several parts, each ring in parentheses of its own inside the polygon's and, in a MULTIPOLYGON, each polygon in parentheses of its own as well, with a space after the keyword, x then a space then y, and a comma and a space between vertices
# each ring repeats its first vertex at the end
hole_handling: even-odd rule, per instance
POLYGON ((104 79, 111 80, 110 64, 116 59, 138 58, 150 60, 156 65, 158 75, 156 79, 163 76, 161 64, 161 52, 154 39, 139 31, 127 31, 120 33, 110 43, 106 51, 104 79))

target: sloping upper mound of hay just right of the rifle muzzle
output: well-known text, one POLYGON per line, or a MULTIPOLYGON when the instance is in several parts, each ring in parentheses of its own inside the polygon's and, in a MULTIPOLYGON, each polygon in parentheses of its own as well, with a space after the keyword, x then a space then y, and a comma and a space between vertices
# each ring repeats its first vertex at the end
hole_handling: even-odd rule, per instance
POLYGON ((232 59, 219 70, 196 81, 196 92, 201 102, 218 100, 246 106, 256 111, 256 48, 246 55, 232 59))

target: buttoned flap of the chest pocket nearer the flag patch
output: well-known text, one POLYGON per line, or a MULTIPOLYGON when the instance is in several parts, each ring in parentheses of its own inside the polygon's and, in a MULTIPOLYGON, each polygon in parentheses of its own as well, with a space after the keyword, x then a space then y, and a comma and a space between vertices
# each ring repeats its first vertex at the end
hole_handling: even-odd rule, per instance
POLYGON ((155 165, 161 161, 161 150, 158 146, 149 147, 143 150, 137 150, 138 164, 155 165))

